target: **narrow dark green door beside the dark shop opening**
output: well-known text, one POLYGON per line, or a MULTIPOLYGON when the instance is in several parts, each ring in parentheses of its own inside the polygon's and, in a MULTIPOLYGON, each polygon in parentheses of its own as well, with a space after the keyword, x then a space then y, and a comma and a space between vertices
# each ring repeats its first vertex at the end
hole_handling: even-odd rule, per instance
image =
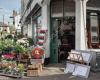
POLYGON ((58 63, 58 21, 56 19, 51 20, 50 29, 50 60, 51 63, 58 63))

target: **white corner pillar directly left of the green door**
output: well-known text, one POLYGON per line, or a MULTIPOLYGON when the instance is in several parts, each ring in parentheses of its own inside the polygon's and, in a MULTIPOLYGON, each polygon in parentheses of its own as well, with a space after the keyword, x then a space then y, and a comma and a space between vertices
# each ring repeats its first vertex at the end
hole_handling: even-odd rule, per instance
POLYGON ((47 30, 47 39, 45 43, 45 57, 50 57, 50 6, 44 4, 42 6, 42 29, 47 30))

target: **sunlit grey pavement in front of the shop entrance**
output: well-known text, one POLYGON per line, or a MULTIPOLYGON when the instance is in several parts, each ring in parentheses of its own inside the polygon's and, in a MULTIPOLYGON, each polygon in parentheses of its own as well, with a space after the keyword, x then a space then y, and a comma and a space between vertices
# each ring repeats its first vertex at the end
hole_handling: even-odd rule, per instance
POLYGON ((0 80, 100 80, 100 72, 90 72, 89 77, 82 78, 64 73, 64 64, 49 64, 37 77, 23 77, 21 79, 0 76, 0 80))

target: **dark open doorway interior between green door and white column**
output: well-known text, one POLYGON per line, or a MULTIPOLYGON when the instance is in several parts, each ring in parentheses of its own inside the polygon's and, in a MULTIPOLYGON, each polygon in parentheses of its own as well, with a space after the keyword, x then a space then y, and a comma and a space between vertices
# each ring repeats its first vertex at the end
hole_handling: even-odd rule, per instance
MULTIPOLYGON (((59 20, 58 20, 59 21, 59 20)), ((59 23, 59 22, 58 22, 59 23)), ((58 26, 58 60, 66 60, 68 52, 75 49, 75 18, 70 16, 58 26)))

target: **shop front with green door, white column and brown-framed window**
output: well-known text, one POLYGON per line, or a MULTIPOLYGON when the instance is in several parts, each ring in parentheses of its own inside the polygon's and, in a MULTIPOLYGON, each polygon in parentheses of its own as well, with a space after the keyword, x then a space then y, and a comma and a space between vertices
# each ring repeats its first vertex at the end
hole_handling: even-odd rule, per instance
POLYGON ((72 49, 100 48, 99 3, 99 0, 51 0, 51 62, 66 60, 72 49))

